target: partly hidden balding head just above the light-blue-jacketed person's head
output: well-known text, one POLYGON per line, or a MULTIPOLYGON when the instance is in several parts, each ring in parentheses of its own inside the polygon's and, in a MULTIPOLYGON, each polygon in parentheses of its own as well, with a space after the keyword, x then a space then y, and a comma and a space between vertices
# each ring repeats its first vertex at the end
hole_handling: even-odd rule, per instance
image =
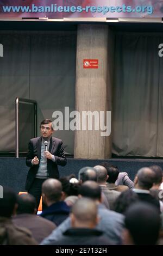
POLYGON ((83 183, 87 180, 97 181, 96 169, 92 167, 83 167, 79 170, 79 181, 83 183))

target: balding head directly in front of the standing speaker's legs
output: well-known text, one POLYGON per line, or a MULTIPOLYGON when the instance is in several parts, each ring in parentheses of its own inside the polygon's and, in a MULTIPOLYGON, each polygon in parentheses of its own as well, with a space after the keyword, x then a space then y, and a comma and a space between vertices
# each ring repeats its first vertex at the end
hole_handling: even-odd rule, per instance
POLYGON ((61 182, 56 179, 47 179, 42 184, 42 194, 44 194, 49 201, 59 201, 62 195, 61 182))

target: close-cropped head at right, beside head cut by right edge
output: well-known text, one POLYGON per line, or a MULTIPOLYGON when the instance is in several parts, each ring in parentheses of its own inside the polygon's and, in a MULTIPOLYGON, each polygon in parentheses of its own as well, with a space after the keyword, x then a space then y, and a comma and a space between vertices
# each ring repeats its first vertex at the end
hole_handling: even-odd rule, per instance
POLYGON ((148 167, 141 168, 136 174, 136 185, 144 190, 149 190, 154 183, 155 174, 152 169, 148 167))

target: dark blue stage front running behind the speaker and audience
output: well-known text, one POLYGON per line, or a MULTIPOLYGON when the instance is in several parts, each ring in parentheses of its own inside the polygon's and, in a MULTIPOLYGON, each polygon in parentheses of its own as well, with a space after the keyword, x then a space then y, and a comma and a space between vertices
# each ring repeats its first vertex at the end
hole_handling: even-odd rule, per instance
MULTIPOLYGON (((95 166, 100 162, 109 162, 120 169, 121 172, 127 172, 131 180, 134 180, 137 170, 141 167, 158 164, 163 169, 163 160, 155 159, 109 159, 109 160, 84 160, 67 158, 65 167, 59 166, 60 176, 75 174, 78 178, 79 169, 85 166, 95 166)), ((24 185, 28 173, 26 158, 21 157, 0 157, 0 185, 14 188, 16 192, 25 191, 24 185)))

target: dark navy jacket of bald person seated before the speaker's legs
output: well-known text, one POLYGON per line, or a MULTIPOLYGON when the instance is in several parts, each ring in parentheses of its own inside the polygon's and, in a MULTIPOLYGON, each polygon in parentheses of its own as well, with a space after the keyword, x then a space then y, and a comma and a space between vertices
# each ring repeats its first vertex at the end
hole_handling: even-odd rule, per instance
POLYGON ((54 224, 58 226, 66 220, 69 214, 70 207, 64 201, 59 201, 48 206, 42 211, 40 216, 54 222, 54 224))

